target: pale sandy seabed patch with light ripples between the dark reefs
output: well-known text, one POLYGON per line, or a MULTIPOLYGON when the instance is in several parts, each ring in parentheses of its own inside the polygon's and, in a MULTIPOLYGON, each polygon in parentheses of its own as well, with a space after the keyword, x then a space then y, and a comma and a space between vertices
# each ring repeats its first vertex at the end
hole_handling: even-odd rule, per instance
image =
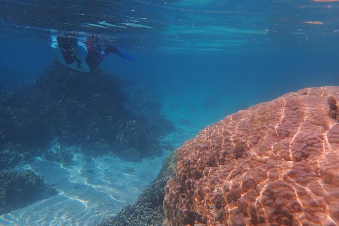
POLYGON ((18 170, 35 170, 58 194, 0 216, 0 225, 95 225, 135 202, 167 154, 140 163, 109 156, 85 161, 78 154, 72 166, 36 158, 18 170))

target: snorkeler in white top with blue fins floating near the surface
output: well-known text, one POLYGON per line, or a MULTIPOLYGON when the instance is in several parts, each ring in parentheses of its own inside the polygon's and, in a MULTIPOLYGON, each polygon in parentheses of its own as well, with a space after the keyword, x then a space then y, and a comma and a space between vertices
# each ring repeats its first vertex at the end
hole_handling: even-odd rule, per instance
POLYGON ((91 68, 99 66, 101 60, 109 53, 115 53, 125 59, 134 59, 120 52, 116 47, 109 45, 101 50, 100 46, 90 42, 78 42, 74 37, 52 36, 50 48, 58 57, 58 60, 75 70, 90 72, 91 68))

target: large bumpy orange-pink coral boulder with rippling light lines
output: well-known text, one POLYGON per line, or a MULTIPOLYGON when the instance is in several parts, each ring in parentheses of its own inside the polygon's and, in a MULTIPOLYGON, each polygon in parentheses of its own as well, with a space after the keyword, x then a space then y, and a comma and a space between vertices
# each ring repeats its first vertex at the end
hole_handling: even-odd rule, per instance
POLYGON ((164 225, 339 225, 339 87, 241 110, 177 151, 164 225))

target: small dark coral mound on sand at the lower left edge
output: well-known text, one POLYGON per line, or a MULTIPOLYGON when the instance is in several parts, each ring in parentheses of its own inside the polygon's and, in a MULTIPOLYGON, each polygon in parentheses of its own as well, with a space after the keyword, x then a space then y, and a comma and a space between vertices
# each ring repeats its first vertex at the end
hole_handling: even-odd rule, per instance
POLYGON ((55 194, 55 189, 32 170, 0 171, 0 215, 55 194))

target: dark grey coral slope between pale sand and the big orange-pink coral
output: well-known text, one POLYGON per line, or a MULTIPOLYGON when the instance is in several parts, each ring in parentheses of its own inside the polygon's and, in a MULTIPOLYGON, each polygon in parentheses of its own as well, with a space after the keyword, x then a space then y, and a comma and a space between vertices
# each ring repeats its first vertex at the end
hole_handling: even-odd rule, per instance
POLYGON ((97 226, 161 226, 165 218, 163 200, 166 181, 175 176, 176 152, 166 157, 157 179, 115 217, 103 219, 97 226))

